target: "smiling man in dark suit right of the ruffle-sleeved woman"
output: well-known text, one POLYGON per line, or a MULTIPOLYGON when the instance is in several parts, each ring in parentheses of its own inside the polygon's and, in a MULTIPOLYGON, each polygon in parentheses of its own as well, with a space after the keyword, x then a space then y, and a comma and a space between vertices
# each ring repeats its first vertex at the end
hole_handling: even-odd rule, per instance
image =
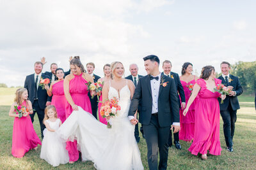
POLYGON ((220 66, 222 75, 218 79, 221 80, 223 85, 232 89, 223 104, 220 103, 221 99, 218 99, 218 101, 220 103, 220 114, 223 119, 223 131, 227 150, 233 152, 236 112, 240 108, 237 96, 243 93, 243 88, 237 76, 229 74, 230 64, 228 62, 223 61, 220 66))

